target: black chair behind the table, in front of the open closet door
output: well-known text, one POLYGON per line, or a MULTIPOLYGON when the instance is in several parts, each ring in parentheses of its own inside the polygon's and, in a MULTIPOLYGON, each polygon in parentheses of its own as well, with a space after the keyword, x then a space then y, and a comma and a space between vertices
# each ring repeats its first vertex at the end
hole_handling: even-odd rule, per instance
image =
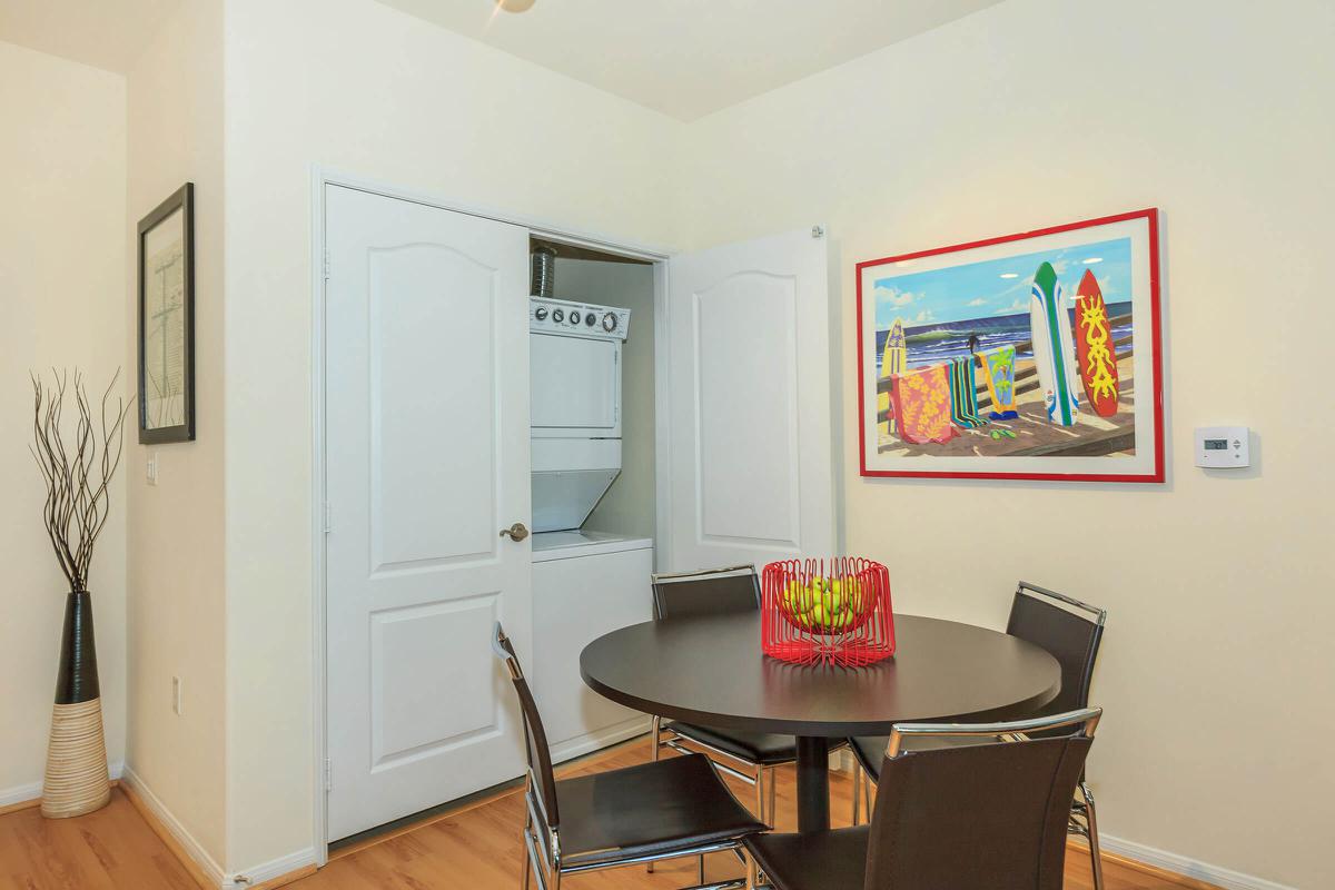
MULTIPOLYGON (((749 612, 760 608, 760 576, 756 566, 732 566, 651 576, 654 620, 693 615, 749 612)), ((721 678, 722 679, 722 678, 721 678)), ((689 742, 704 749, 724 773, 756 786, 756 814, 774 825, 773 769, 797 761, 797 739, 792 735, 749 733, 681 721, 653 718, 651 758, 661 749, 681 754, 692 751, 689 742), (737 765, 737 766, 733 766, 737 765), (741 769, 737 769, 737 767, 741 769)))

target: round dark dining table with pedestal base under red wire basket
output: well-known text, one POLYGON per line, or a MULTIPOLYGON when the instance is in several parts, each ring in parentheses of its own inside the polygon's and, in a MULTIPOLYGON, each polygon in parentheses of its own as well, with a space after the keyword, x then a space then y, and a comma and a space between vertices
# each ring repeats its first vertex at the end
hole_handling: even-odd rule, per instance
POLYGON ((758 611, 631 624, 589 643, 585 683, 685 723, 797 739, 798 831, 829 827, 829 745, 902 722, 1032 715, 1061 690, 1043 648, 999 631, 896 615, 896 652, 866 667, 792 664, 761 652, 758 611))

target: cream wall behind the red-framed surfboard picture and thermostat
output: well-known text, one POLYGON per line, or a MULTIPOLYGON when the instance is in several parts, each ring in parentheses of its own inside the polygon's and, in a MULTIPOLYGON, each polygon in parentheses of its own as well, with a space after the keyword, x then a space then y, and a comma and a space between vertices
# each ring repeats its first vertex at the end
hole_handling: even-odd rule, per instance
POLYGON ((698 121, 680 180, 700 246, 829 223, 848 547, 897 607, 1003 626, 1017 578, 1107 606, 1104 830, 1295 887, 1335 885, 1332 32, 1318 1, 1011 0, 698 121), (856 262, 1149 205, 1167 484, 858 478, 856 262), (1192 467, 1212 423, 1258 466, 1192 467))

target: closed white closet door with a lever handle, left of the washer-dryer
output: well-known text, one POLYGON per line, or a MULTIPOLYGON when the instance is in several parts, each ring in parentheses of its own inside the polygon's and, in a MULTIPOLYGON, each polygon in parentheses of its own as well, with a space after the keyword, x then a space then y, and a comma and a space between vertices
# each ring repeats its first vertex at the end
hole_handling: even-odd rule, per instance
MULTIPOLYGON (((326 189, 330 839, 523 773, 529 234, 326 189)), ((259 396, 258 396, 259 398, 259 396)))

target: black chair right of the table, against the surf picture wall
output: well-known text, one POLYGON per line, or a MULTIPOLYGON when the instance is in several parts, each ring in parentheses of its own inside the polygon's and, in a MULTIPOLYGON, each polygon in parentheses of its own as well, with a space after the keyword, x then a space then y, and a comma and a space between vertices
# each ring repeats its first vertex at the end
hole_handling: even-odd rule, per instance
MULTIPOLYGON (((1007 634, 1033 643, 1057 659, 1061 664, 1061 691, 1047 706, 1043 714, 1072 711, 1089 705, 1089 683, 1093 678, 1095 659, 1103 642, 1103 626, 1107 610, 1089 606, 1079 599, 1059 594, 1037 584, 1021 580, 1011 602, 1011 618, 1007 634)), ((853 823, 861 818, 864 801, 870 810, 870 783, 862 773, 874 782, 878 775, 881 751, 885 750, 885 737, 853 738, 849 743, 860 770, 854 770, 853 823)), ((969 738, 921 738, 909 739, 909 746, 943 745, 960 746, 971 743, 969 738)), ((1085 838, 1089 843, 1089 867, 1093 871, 1095 890, 1103 890, 1103 859, 1099 855, 1099 818, 1095 811, 1093 793, 1080 774, 1079 797, 1072 795, 1071 815, 1067 829, 1071 834, 1085 838)))

